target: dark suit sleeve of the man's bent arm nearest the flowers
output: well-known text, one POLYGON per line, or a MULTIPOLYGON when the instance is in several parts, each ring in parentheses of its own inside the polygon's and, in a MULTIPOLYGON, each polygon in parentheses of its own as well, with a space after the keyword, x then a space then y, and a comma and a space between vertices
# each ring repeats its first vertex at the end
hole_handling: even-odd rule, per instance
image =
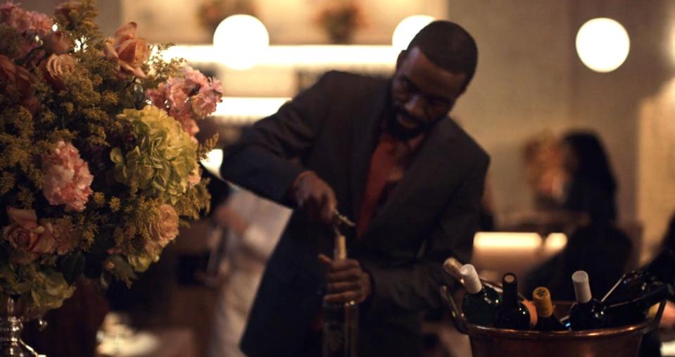
POLYGON ((289 158, 302 157, 311 149, 329 111, 328 77, 244 130, 223 159, 221 177, 272 201, 284 201, 304 170, 289 158))

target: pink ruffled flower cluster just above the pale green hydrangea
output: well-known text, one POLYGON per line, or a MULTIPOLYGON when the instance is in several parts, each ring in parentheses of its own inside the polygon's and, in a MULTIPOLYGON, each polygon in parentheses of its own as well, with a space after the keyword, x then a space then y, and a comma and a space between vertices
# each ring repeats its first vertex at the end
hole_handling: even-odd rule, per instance
POLYGON ((149 89, 146 97, 178 120, 185 132, 194 137, 199 132, 196 119, 206 118, 222 101, 222 86, 215 78, 207 78, 189 65, 179 77, 170 77, 157 89, 149 89))

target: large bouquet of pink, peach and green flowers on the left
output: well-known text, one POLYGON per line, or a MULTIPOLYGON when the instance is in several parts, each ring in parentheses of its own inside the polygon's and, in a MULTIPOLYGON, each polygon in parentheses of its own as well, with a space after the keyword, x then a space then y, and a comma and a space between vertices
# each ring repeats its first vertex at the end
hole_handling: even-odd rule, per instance
POLYGON ((53 16, 0 5, 0 297, 39 315, 81 276, 131 284, 179 225, 208 211, 196 120, 220 82, 127 23, 103 37, 94 0, 53 16))

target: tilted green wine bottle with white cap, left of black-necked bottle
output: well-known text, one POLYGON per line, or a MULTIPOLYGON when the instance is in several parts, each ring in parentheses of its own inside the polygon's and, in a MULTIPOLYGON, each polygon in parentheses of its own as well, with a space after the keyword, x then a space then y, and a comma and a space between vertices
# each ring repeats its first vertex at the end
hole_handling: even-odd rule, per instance
POLYGON ((474 265, 462 265, 460 275, 467 289, 467 294, 462 298, 462 313, 474 325, 492 326, 500 303, 499 294, 481 283, 474 265))

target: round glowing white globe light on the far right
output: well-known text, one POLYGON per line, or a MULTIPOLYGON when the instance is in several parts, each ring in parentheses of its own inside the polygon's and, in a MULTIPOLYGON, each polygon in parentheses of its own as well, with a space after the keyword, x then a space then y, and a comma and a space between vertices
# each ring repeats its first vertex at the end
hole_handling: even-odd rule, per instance
POLYGON ((619 68, 630 51, 626 29, 611 18, 588 20, 576 34, 576 52, 581 62, 595 72, 607 73, 619 68))

